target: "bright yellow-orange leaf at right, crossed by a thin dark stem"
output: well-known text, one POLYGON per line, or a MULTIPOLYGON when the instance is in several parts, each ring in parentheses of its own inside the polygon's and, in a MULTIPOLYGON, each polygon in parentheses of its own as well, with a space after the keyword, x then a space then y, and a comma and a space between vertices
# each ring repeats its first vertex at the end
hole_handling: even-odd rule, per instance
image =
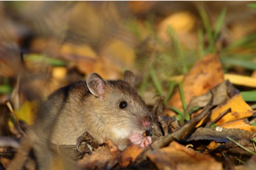
POLYGON ((243 97, 238 94, 230 99, 224 104, 218 105, 215 109, 212 110, 212 113, 201 120, 196 127, 201 126, 202 124, 215 120, 222 112, 226 111, 228 108, 231 108, 231 112, 226 113, 223 117, 220 118, 215 124, 223 125, 224 123, 241 120, 252 116, 252 108, 244 102, 243 97))

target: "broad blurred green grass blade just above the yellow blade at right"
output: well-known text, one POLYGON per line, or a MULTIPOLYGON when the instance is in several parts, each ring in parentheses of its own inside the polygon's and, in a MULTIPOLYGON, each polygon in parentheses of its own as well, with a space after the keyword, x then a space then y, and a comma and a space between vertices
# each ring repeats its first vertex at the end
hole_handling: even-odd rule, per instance
POLYGON ((223 64, 242 66, 250 70, 256 70, 256 63, 238 58, 220 58, 223 64))

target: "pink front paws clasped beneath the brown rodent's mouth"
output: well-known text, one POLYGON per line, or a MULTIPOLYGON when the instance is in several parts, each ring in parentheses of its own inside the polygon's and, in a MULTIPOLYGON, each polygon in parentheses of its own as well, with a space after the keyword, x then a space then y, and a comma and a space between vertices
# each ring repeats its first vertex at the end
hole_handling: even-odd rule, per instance
POLYGON ((152 142, 150 136, 144 137, 140 133, 133 133, 133 134, 129 135, 128 138, 132 144, 140 145, 140 147, 142 147, 142 148, 148 146, 152 142))

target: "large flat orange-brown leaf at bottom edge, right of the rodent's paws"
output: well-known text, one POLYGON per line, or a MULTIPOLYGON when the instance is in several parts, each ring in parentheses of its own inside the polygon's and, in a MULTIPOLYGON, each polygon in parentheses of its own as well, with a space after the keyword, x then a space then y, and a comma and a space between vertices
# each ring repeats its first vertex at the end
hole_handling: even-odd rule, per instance
POLYGON ((176 142, 160 150, 149 152, 148 158, 158 169, 222 169, 221 163, 211 156, 197 153, 176 142))

